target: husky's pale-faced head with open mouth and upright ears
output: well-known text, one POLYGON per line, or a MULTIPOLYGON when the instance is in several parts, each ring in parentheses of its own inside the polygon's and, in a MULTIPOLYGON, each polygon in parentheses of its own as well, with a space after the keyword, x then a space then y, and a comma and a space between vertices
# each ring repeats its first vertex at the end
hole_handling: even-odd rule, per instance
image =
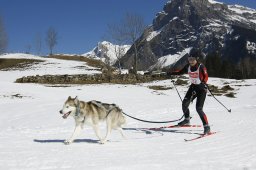
POLYGON ((60 110, 60 114, 63 115, 62 117, 66 119, 69 115, 74 116, 76 113, 78 104, 79 104, 79 101, 77 97, 71 98, 69 96, 66 102, 64 103, 62 110, 60 110))

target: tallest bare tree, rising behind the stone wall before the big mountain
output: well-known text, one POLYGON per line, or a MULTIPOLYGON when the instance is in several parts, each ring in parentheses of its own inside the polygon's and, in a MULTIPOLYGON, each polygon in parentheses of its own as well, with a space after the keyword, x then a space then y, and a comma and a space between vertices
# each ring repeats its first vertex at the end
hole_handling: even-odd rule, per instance
POLYGON ((133 64, 135 73, 137 73, 138 65, 138 44, 136 40, 142 35, 145 28, 144 19, 140 15, 131 13, 126 13, 123 20, 118 25, 109 26, 112 38, 116 40, 118 44, 132 44, 135 52, 133 64))

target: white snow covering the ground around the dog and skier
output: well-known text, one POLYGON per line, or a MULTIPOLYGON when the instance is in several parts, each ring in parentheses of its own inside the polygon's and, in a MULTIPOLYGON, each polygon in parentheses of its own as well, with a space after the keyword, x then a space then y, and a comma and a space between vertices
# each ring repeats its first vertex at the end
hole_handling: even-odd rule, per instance
MULTIPOLYGON (((15 54, 15 57, 22 55, 15 54)), ((14 56, 0 56, 6 57, 14 56)), ((45 60, 58 64, 58 68, 49 64, 19 72, 0 71, 0 169, 256 169, 255 79, 209 78, 210 84, 220 87, 229 84, 237 93, 236 98, 217 96, 232 109, 232 113, 228 113, 214 98, 206 98, 204 110, 212 131, 217 131, 213 136, 184 142, 184 139, 196 137, 194 133, 201 133, 202 128, 163 129, 146 133, 133 129, 164 124, 148 124, 127 118, 124 131, 127 139, 113 131, 110 141, 100 145, 92 128, 86 127, 78 140, 67 146, 63 141, 73 132, 74 121, 72 118, 63 120, 58 112, 69 95, 85 101, 116 103, 125 113, 154 121, 180 118, 181 102, 174 88, 165 91, 148 88, 149 85, 172 87, 170 80, 138 85, 68 87, 13 83, 22 75, 94 73, 78 69, 76 66, 82 65, 79 62, 45 60), (15 94, 24 97, 14 97, 15 94)), ((187 86, 177 86, 177 89, 184 97, 187 86)), ((191 123, 201 124, 195 102, 190 108, 191 123)), ((104 132, 104 125, 101 130, 104 132)))

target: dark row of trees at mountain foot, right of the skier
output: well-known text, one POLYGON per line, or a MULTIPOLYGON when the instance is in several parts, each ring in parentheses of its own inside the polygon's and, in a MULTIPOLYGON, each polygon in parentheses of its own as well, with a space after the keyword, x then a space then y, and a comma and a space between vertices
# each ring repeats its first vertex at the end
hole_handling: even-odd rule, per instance
POLYGON ((256 78, 256 58, 247 56, 235 62, 232 58, 222 58, 214 53, 200 59, 205 64, 211 77, 230 79, 253 79, 256 78))

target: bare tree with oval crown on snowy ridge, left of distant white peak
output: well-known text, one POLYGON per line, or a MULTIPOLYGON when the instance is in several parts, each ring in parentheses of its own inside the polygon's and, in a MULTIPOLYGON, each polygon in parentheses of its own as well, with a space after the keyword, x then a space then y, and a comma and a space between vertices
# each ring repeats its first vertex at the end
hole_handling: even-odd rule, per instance
POLYGON ((52 55, 53 48, 57 45, 57 39, 57 31, 53 27, 50 27, 46 33, 46 44, 49 47, 50 55, 52 55))

